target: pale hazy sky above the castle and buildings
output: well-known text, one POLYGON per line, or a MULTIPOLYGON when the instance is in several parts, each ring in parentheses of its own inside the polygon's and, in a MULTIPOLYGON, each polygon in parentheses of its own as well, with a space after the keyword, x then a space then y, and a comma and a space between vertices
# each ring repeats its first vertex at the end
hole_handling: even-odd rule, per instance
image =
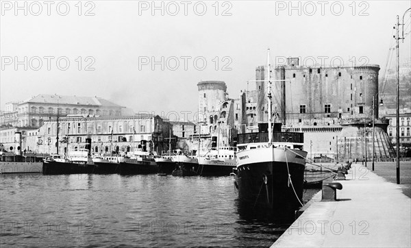
MULTIPOLYGON (((1 110, 8 101, 45 93, 103 97, 136 112, 195 112, 198 82, 224 81, 236 98, 264 65, 267 47, 272 63, 289 56, 320 63, 326 56, 329 66, 339 64, 338 56, 383 71, 396 16, 411 7, 410 1, 292 5, 157 1, 154 10, 151 1, 19 1, 18 10, 14 1, 1 1, 1 110)), ((408 34, 409 15, 405 21, 408 34)), ((410 58, 410 38, 400 45, 403 61, 410 58)))

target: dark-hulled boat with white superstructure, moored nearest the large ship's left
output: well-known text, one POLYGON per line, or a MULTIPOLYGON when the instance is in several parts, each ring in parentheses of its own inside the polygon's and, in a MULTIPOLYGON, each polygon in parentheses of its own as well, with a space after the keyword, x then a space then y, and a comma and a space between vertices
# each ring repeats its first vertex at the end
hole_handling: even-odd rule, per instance
POLYGON ((236 168, 237 147, 212 148, 199 158, 200 175, 221 176, 229 175, 236 168))

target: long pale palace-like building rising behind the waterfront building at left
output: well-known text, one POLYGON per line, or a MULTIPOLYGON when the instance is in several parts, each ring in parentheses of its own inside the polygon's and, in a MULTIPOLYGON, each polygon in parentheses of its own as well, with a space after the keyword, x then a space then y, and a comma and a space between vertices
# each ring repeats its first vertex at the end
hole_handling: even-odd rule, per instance
POLYGON ((0 125, 41 127, 45 121, 59 116, 121 116, 124 107, 101 97, 77 97, 40 94, 19 103, 5 104, 0 125))

